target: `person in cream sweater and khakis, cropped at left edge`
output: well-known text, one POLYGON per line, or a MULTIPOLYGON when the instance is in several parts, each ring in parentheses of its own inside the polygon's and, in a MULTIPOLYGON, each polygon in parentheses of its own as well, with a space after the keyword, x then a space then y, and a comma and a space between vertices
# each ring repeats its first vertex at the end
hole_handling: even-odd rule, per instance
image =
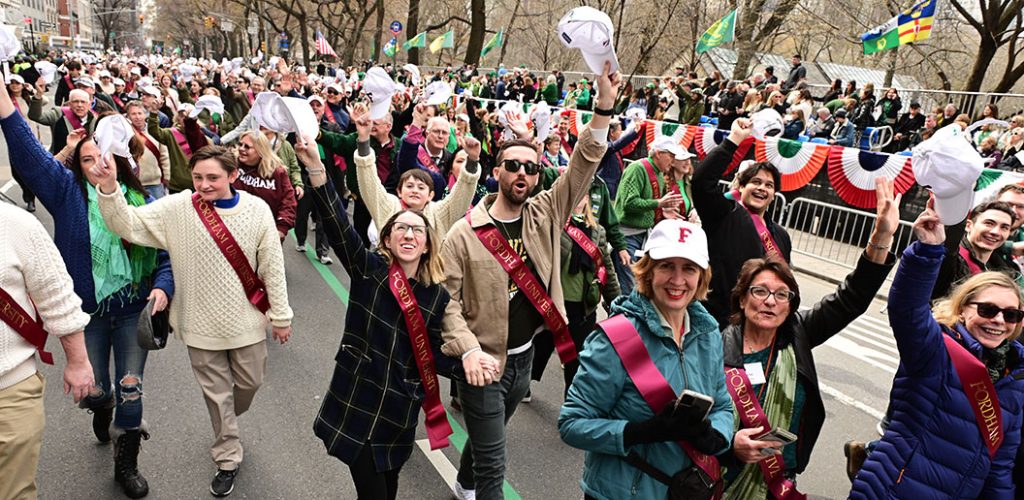
POLYGON ((75 402, 92 388, 83 330, 89 316, 46 230, 28 212, 0 202, 0 498, 36 498, 36 466, 43 440, 43 386, 36 347, 11 326, 13 310, 35 318, 60 339, 68 357, 65 392, 75 402), (8 323, 10 322, 10 323, 8 323))

